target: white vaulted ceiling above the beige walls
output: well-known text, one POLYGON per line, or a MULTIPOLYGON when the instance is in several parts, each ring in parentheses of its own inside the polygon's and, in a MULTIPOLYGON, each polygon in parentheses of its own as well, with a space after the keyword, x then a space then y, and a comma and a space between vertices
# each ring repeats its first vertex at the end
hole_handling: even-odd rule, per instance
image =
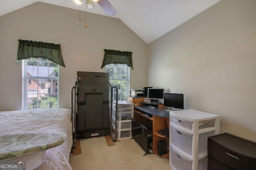
MULTIPOLYGON (((220 0, 108 0, 120 19, 146 43, 158 39, 220 0)), ((35 2, 79 10, 73 0, 1 0, 0 16, 35 2)), ((85 11, 85 0, 80 9, 85 11)), ((97 2, 86 12, 107 16, 97 2)))

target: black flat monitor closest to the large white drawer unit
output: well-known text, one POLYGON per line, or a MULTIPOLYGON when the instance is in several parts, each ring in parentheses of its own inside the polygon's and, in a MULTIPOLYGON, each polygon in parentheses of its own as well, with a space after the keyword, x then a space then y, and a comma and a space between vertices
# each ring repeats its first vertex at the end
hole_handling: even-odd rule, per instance
POLYGON ((164 107, 184 109, 184 94, 164 93, 164 107))

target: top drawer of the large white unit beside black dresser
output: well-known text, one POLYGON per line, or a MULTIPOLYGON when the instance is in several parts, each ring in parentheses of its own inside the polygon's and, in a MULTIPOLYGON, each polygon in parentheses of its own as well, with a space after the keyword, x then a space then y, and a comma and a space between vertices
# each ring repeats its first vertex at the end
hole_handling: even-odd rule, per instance
MULTIPOLYGON (((176 117, 174 115, 170 115, 171 121, 176 125, 184 127, 186 129, 192 130, 193 121, 182 119, 180 117, 176 117)), ((214 119, 199 121, 198 129, 203 129, 206 127, 213 127, 214 126, 214 119)))

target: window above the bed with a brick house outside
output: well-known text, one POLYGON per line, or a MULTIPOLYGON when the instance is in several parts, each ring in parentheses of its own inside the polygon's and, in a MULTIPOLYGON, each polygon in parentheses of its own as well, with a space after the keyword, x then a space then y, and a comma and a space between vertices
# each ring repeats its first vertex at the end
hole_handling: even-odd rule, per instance
POLYGON ((58 108, 59 65, 31 58, 22 61, 22 70, 22 109, 58 108))

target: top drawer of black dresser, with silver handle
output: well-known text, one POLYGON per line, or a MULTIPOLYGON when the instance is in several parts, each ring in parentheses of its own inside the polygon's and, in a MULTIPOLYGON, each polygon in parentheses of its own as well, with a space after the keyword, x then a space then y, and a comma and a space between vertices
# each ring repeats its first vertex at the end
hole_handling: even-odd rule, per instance
MULTIPOLYGON (((241 146, 242 147, 242 146, 241 146)), ((235 170, 255 170, 256 160, 208 140, 208 156, 235 170)))

